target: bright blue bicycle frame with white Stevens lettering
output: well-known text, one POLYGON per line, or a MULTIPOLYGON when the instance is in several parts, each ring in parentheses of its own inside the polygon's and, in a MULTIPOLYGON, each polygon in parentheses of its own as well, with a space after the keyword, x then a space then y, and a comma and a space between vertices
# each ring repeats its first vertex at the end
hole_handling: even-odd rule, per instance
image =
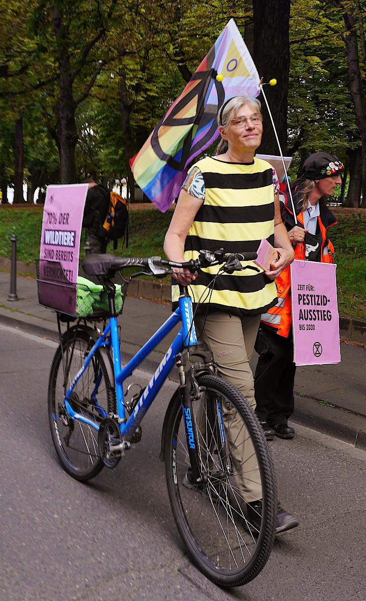
MULTIPOLYGON (((180 296, 179 297, 179 307, 168 317, 166 322, 160 326, 160 328, 152 335, 151 338, 143 345, 143 347, 134 355, 134 357, 125 365, 124 368, 121 367, 121 353, 119 350, 119 338, 118 338, 118 323, 116 317, 110 317, 109 322, 107 323, 104 332, 101 333, 98 340, 95 342, 94 346, 88 353, 85 358, 85 361, 80 368, 79 372, 71 382, 70 388, 65 394, 65 407, 68 414, 71 418, 82 421, 83 423, 88 424, 95 430, 99 430, 98 424, 92 419, 87 418, 86 416, 80 415, 80 413, 73 410, 68 399, 70 398, 71 393, 73 392, 74 387, 76 386, 77 381, 82 376, 86 367, 88 367, 89 362, 92 360, 92 357, 95 355, 95 352, 100 347, 111 347, 113 350, 113 369, 115 375, 115 390, 116 390, 116 400, 117 400, 117 413, 120 421, 119 429, 121 430, 121 436, 123 439, 127 440, 132 438, 134 432, 136 431, 137 426, 139 426, 142 421, 143 416, 146 411, 151 406, 152 401, 160 391, 161 386, 169 376, 170 371, 174 367, 176 363, 176 355, 181 352, 185 347, 194 346, 197 344, 197 336, 196 330, 194 328, 193 323, 193 308, 192 301, 190 296, 180 296), (142 363, 142 361, 149 355, 149 353, 157 347, 163 338, 172 331, 172 329, 177 325, 177 323, 181 322, 182 327, 179 330, 178 334, 174 338, 172 344, 169 349, 165 353, 163 359, 155 370, 154 375, 151 377, 148 385, 143 391, 139 401, 134 407, 131 415, 126 419, 126 411, 124 404, 124 392, 123 392, 123 383, 127 377, 131 376, 133 371, 142 363), (106 340, 108 339, 108 340, 106 340)), ((103 417, 106 417, 103 412, 103 417)))

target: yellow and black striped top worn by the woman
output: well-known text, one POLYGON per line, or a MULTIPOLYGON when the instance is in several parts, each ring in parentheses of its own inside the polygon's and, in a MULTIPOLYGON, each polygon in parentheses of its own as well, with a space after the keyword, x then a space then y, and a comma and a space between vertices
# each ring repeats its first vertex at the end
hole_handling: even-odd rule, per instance
MULTIPOLYGON (((200 249, 224 252, 255 252, 266 238, 274 243, 274 188, 272 167, 254 157, 253 163, 227 163, 206 157, 196 163, 205 182, 205 200, 194 218, 185 240, 185 260, 197 258, 200 249)), ((254 266, 251 261, 242 265, 254 266)), ((203 269, 191 284, 190 294, 197 303, 218 273, 219 266, 203 269)), ((258 269, 260 269, 258 267, 258 269)), ((178 300, 178 285, 172 287, 172 300, 178 300)), ((212 290, 200 299, 209 312, 257 315, 277 302, 274 281, 263 270, 218 275, 212 290), (209 307, 207 307, 209 303, 209 307)))

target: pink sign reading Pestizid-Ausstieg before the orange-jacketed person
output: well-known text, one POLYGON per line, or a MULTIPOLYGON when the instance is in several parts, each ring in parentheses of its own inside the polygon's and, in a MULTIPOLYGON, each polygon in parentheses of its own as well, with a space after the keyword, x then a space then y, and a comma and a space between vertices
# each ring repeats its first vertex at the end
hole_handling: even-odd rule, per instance
POLYGON ((341 360, 334 263, 293 261, 292 325, 296 365, 341 360))

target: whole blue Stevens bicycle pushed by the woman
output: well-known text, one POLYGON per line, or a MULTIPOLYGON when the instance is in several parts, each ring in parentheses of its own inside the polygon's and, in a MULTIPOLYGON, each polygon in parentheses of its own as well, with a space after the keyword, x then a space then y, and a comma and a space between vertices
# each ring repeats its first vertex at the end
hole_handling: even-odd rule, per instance
MULTIPOLYGON (((166 410, 160 460, 166 465, 176 525, 191 558, 208 578, 224 586, 255 578, 274 542, 275 480, 262 428, 245 398, 217 375, 211 353, 198 343, 186 287, 181 287, 179 308, 122 367, 112 279, 131 266, 155 276, 171 273, 174 266, 194 272, 212 264, 232 272, 242 269, 239 260, 250 258, 202 251, 197 260, 178 264, 160 257, 88 255, 83 269, 103 285, 107 310, 78 319, 58 313, 60 345, 49 377, 53 444, 68 474, 86 481, 104 466, 115 468, 140 441, 143 416, 172 368, 178 367, 180 385, 166 410), (64 334, 62 321, 67 326, 64 334), (125 380, 179 322, 181 329, 151 380, 126 398, 125 380), (255 471, 246 469, 242 441, 256 456, 255 471), (257 498, 248 492, 253 480, 261 490, 257 498), (262 501, 256 516, 254 501, 262 501)), ((124 297, 130 279, 121 281, 124 297)))

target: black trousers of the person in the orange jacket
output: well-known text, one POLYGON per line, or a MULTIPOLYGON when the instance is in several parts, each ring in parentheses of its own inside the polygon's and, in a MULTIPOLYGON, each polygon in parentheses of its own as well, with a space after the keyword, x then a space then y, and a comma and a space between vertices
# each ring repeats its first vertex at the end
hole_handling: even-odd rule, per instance
POLYGON ((287 424, 293 413, 293 386, 296 365, 293 362, 292 328, 289 336, 279 336, 271 326, 260 326, 254 346, 259 359, 254 374, 256 413, 271 426, 287 424))

